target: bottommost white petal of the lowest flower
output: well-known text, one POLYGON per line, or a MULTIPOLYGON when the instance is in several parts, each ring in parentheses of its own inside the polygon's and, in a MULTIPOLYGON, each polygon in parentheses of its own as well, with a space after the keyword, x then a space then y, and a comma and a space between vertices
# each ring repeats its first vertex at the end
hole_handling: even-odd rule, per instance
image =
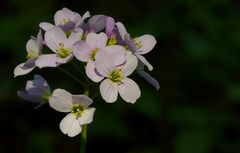
POLYGON ((69 137, 74 137, 82 131, 79 121, 76 120, 76 116, 72 113, 64 117, 59 126, 62 133, 67 134, 69 137))

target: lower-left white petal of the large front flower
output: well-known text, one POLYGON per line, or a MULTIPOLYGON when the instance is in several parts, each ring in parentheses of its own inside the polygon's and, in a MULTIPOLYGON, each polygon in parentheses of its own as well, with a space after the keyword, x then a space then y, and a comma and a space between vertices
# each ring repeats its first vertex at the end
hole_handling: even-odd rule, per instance
POLYGON ((100 93, 102 95, 102 98, 108 102, 113 103, 117 100, 118 96, 118 85, 116 83, 113 83, 109 79, 105 79, 100 84, 100 93))

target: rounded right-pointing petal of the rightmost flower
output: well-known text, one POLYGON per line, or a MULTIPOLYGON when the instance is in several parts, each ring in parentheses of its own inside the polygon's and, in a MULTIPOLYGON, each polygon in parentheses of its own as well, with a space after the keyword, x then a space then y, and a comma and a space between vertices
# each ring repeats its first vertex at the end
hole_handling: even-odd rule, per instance
POLYGON ((150 52, 157 43, 156 39, 152 35, 148 34, 137 38, 137 42, 142 46, 137 49, 139 54, 146 54, 150 52))

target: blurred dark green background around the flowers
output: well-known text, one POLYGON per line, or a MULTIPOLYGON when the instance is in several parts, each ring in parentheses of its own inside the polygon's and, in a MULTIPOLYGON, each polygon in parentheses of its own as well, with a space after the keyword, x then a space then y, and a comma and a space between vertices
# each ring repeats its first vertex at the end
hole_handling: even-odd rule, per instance
POLYGON ((80 137, 58 128, 65 114, 34 109, 16 92, 34 73, 52 89, 80 93, 81 87, 51 68, 13 78, 38 24, 53 22, 62 7, 112 16, 132 36, 149 33, 158 41, 147 59, 160 90, 134 76, 142 90, 134 105, 95 98, 88 153, 239 153, 239 6, 239 0, 1 0, 0 153, 79 152, 80 137))

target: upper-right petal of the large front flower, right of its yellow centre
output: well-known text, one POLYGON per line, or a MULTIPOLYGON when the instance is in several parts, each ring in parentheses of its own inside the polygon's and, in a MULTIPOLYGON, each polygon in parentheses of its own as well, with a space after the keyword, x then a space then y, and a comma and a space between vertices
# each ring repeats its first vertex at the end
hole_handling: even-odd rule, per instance
POLYGON ((138 60, 131 52, 127 52, 126 63, 122 68, 124 76, 129 76, 137 68, 138 60))

